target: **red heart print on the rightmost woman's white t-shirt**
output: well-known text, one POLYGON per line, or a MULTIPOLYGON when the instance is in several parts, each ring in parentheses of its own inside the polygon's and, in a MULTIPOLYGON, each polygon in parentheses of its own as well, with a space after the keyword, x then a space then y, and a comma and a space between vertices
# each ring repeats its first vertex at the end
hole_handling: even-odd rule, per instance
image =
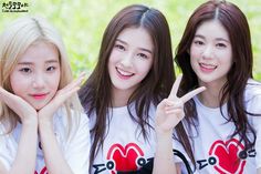
POLYGON ((209 151, 209 155, 217 160, 213 168, 220 174, 242 174, 246 161, 239 158, 238 154, 243 150, 243 144, 236 139, 216 141, 209 151))

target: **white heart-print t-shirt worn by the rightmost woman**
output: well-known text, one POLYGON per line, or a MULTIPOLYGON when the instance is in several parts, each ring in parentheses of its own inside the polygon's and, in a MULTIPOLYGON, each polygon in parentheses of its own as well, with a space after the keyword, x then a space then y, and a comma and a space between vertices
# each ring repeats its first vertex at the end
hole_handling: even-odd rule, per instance
MULTIPOLYGON (((237 88, 237 86, 236 86, 237 88)), ((248 81, 244 93, 248 112, 261 114, 261 84, 253 80, 248 81)), ((261 167, 261 116, 248 115, 249 123, 257 132, 254 150, 243 151, 244 144, 239 143, 239 136, 230 137, 234 131, 232 122, 221 115, 220 109, 205 106, 194 98, 198 112, 198 133, 192 130, 196 158, 196 172, 200 174, 253 174, 261 167), (240 145, 237 145, 237 144, 240 145), (241 156, 241 157, 240 157, 241 156)), ((227 104, 222 112, 228 117, 227 104)), ((186 122, 182 122, 186 125, 186 122)), ((252 137, 249 136, 251 140, 252 137)), ((174 149, 185 151, 180 143, 174 141, 174 149)), ((188 158, 188 157, 187 157, 188 158)), ((178 161, 178 160, 177 160, 178 161)))

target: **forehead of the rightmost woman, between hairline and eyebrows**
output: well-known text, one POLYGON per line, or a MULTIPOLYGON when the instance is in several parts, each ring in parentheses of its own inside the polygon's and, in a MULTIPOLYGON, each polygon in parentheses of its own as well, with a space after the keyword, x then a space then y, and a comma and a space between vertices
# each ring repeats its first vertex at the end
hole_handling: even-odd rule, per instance
POLYGON ((197 28, 196 35, 203 35, 206 38, 222 38, 229 40, 228 31, 219 20, 209 20, 202 22, 197 28))

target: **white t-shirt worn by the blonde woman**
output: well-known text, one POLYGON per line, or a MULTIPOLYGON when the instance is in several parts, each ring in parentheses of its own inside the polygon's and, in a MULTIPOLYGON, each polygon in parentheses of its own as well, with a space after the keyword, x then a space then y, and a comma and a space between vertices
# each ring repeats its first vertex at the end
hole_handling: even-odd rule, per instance
MULTIPOLYGON (((67 121, 63 112, 63 110, 59 110, 53 116, 54 133, 60 149, 62 150, 69 166, 75 174, 87 174, 91 146, 88 119, 85 114, 82 114, 80 117, 80 125, 73 126, 72 131, 74 134, 66 139, 67 121)), ((76 115, 72 115, 72 117, 76 115)), ((12 133, 2 135, 2 133, 6 132, 6 129, 3 124, 0 124, 0 161, 7 170, 10 170, 15 158, 21 129, 22 124, 18 124, 12 133)), ((41 143, 39 142, 34 174, 46 173, 43 152, 41 150, 41 143)))

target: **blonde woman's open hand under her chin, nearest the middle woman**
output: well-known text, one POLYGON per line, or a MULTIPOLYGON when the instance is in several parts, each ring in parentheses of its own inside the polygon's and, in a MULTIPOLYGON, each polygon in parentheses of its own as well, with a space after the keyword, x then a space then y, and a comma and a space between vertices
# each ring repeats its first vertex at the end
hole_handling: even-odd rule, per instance
POLYGON ((69 83, 65 88, 59 90, 54 98, 38 112, 39 119, 51 122, 52 116, 56 112, 56 110, 77 90, 80 90, 80 85, 83 82, 84 78, 85 73, 81 73, 76 80, 69 83))

